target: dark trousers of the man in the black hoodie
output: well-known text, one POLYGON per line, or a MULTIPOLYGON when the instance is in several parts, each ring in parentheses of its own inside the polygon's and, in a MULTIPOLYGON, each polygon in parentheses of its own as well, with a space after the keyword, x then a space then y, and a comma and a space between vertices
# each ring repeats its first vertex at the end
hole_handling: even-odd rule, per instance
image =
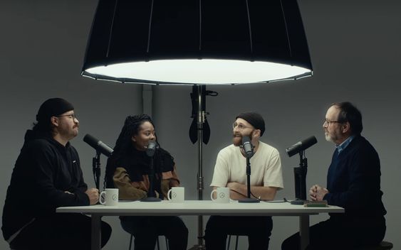
MULTIPOLYGON (((16 250, 90 250, 90 217, 83 214, 52 214, 37 218, 11 241, 16 250)), ((109 224, 102 222, 102 247, 111 235, 109 224)))

